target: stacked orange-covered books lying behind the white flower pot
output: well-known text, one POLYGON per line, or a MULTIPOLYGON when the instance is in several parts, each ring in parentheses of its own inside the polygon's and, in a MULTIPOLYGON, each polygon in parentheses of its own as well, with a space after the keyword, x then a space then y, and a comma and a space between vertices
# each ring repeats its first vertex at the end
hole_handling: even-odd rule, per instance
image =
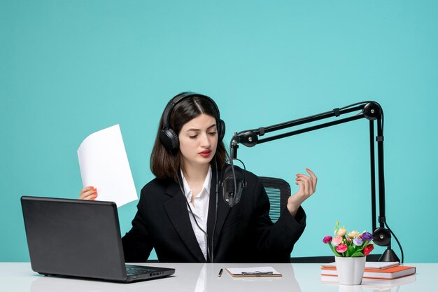
MULTIPOLYGON (((398 262, 367 262, 365 263, 365 279, 394 280, 415 274, 416 267, 400 265, 398 262)), ((414 276, 415 277, 415 276, 414 276)), ((337 281, 336 263, 321 266, 322 281, 337 281)))

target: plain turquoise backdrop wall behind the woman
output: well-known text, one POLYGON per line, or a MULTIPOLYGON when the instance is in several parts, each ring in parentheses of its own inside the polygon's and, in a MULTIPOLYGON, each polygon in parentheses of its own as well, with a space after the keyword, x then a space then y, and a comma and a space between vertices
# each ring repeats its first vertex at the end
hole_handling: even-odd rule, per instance
MULTIPOLYGON (((78 196, 76 150, 92 132, 120 124, 139 192, 153 179, 165 104, 193 90, 216 100, 227 142, 232 132, 379 102, 388 224, 406 263, 438 262, 437 1, 0 3, 0 261, 29 260, 20 196, 78 196)), ((241 146, 239 158, 294 191, 305 167, 318 175, 292 256, 330 255, 321 240, 337 219, 371 229, 366 120, 241 146)), ((119 209, 122 233, 135 211, 136 202, 119 209)))

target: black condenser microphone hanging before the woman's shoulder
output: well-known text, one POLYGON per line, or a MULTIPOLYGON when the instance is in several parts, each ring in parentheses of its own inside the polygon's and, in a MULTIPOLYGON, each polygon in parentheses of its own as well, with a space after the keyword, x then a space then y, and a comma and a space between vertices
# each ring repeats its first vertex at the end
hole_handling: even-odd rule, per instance
POLYGON ((246 187, 245 170, 234 165, 228 165, 222 176, 222 189, 224 201, 233 207, 240 201, 243 188, 246 187))

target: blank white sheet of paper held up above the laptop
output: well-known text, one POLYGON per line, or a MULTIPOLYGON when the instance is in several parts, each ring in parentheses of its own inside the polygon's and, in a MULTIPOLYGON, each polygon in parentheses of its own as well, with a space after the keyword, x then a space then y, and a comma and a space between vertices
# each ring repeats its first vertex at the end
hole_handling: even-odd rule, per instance
POLYGON ((83 186, 97 188, 96 200, 120 207, 138 199, 119 125, 85 138, 78 158, 83 186))

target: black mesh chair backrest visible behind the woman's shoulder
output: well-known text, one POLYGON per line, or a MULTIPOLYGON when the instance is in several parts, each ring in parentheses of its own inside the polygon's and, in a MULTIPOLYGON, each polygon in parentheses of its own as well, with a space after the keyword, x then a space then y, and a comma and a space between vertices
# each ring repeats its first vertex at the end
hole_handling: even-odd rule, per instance
POLYGON ((288 204, 290 197, 290 185, 284 179, 277 179, 275 177, 260 176, 264 190, 269 197, 271 209, 269 209, 269 217, 272 222, 276 222, 280 217, 281 210, 288 204))

